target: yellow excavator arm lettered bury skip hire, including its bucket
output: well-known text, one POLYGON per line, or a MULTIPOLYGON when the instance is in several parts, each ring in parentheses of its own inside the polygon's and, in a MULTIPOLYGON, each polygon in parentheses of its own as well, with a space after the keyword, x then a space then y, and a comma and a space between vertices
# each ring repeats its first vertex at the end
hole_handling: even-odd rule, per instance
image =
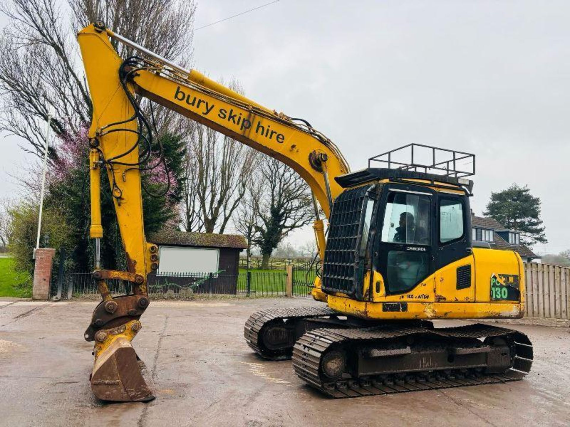
MULTIPOLYGON (((85 333, 86 340, 95 341, 91 384, 102 400, 146 401, 153 399, 152 392, 141 375, 130 342, 140 330, 139 318, 149 305, 146 280, 148 273, 158 268, 158 248, 146 243, 144 236, 140 174, 152 145, 152 132, 138 97, 146 97, 286 163, 306 180, 327 217, 332 201, 342 191, 334 178, 349 173, 349 167, 337 147, 306 121, 267 109, 195 70, 186 71, 114 34, 103 23, 84 28, 78 40, 93 103, 89 129, 90 236, 95 240, 93 277, 103 298, 85 333), (143 56, 121 59, 111 39, 143 56), (126 272, 101 269, 101 169, 107 171, 111 183, 126 252, 126 272), (133 293, 113 297, 107 286, 109 279, 131 282, 133 293)), ((315 211, 315 236, 322 259, 324 227, 316 202, 315 211)), ((326 298, 319 286, 314 296, 326 298)))

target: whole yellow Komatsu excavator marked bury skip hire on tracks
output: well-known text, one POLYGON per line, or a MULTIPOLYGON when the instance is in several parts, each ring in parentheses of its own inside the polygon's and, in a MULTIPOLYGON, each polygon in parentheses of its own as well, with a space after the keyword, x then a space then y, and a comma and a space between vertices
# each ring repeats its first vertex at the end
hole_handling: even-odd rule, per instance
POLYGON ((90 236, 103 299, 84 338, 95 342, 91 387, 99 399, 154 398, 131 345, 150 303, 147 276, 159 262, 143 229, 140 174, 152 132, 141 97, 279 159, 312 190, 322 260, 312 295, 325 304, 251 315, 245 339, 260 356, 292 358, 300 378, 333 397, 503 383, 530 371, 532 345, 521 332, 431 322, 524 312, 519 255, 477 247, 471 239, 473 182, 466 177, 475 171, 472 154, 412 144, 351 173, 335 144, 305 120, 178 67, 102 22, 84 28, 78 40, 93 102, 90 236), (111 40, 140 56, 121 59, 111 40), (429 153, 427 161, 418 160, 421 150, 429 153), (127 271, 101 269, 102 170, 111 183, 127 271), (132 292, 113 297, 111 279, 128 281, 132 292))

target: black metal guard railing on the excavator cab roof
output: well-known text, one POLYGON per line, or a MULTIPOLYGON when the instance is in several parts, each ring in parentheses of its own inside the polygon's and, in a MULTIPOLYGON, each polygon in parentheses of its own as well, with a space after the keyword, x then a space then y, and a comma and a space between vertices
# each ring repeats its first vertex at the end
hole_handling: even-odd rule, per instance
POLYGON ((465 178, 475 175, 475 154, 411 143, 370 157, 368 167, 388 167, 465 178))

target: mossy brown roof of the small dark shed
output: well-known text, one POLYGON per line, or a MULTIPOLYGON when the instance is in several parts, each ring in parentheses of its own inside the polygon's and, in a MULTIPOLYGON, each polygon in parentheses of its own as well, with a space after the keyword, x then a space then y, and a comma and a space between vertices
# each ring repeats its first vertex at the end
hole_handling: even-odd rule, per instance
POLYGON ((246 249, 247 242, 242 235, 216 233, 186 233, 174 229, 162 229, 152 233, 148 241, 157 245, 190 246, 201 248, 246 249))

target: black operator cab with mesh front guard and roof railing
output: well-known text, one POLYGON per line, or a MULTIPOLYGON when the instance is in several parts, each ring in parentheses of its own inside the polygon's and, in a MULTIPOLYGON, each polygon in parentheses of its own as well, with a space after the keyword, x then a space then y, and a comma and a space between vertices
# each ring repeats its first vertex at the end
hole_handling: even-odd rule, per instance
MULTIPOLYGON (((408 147, 412 153, 418 150, 410 145, 385 154, 391 158, 408 147)), ((435 150, 441 150, 420 147, 433 150, 433 159, 435 150)), ((442 151, 451 153, 455 162, 473 158, 474 163, 472 154, 442 151)), ((462 177, 467 172, 450 171, 447 164, 445 175, 417 170, 437 170, 435 161, 429 166, 408 164, 405 169, 396 163, 399 169, 368 167, 336 178, 346 190, 331 213, 323 262, 326 293, 365 299, 364 276, 369 270, 382 275, 386 295, 408 293, 439 268, 471 254, 473 182, 462 177)))

